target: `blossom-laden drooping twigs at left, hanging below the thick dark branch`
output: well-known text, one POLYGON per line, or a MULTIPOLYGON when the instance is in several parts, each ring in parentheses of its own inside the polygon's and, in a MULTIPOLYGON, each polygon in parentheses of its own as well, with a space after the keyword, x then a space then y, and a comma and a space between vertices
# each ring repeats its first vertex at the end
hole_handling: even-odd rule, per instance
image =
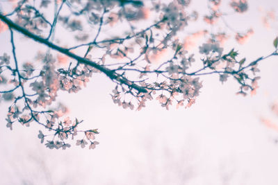
POLYGON ((89 148, 94 149, 98 144, 95 141, 95 134, 99 134, 97 129, 77 130, 78 125, 83 121, 77 118, 72 121, 70 117, 65 117, 68 112, 67 107, 61 104, 50 107, 56 100, 58 90, 69 93, 78 91, 81 86, 85 86, 85 82, 88 82, 87 77, 90 76, 92 70, 90 67, 81 68, 80 66, 76 67, 74 72, 69 72, 67 76, 63 69, 56 69, 54 65, 56 59, 51 54, 38 53, 35 59, 43 63, 39 71, 30 62, 24 63, 22 70, 19 70, 17 60, 14 61, 15 65, 12 65, 7 53, 0 56, 1 82, 8 78, 8 71, 14 73, 13 79, 5 82, 11 89, 0 91, 3 94, 1 97, 3 100, 13 100, 13 104, 8 108, 6 126, 13 130, 16 121, 26 127, 35 121, 49 130, 48 134, 40 130, 38 138, 41 143, 44 143, 45 138, 51 137, 51 140, 45 143, 45 146, 50 149, 70 148, 71 145, 67 139, 75 139, 78 132, 83 132, 87 141, 77 139, 76 146, 81 145, 81 148, 84 148, 90 142, 89 148))

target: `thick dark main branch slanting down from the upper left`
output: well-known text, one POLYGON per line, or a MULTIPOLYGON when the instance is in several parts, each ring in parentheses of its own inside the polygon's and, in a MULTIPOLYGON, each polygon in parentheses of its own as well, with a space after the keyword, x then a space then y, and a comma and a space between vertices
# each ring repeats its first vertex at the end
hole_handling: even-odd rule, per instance
POLYGON ((40 42, 41 44, 47 45, 47 46, 49 46, 49 48, 54 49, 60 53, 63 53, 65 55, 69 56, 70 58, 79 61, 79 63, 81 63, 81 64, 86 64, 91 67, 94 67, 95 69, 98 69, 99 71, 105 73, 106 76, 111 78, 111 80, 117 80, 118 82, 120 82, 124 85, 127 85, 128 87, 131 87, 133 89, 136 89, 139 92, 143 92, 143 93, 147 92, 147 90, 144 87, 136 85, 135 83, 129 81, 128 79, 124 78, 123 76, 120 76, 118 73, 115 73, 115 71, 108 69, 106 67, 103 67, 95 62, 92 62, 92 61, 86 59, 86 58, 81 58, 79 55, 75 55, 74 53, 68 51, 67 49, 57 46, 56 44, 49 42, 47 39, 44 39, 38 35, 31 33, 30 31, 26 30, 22 26, 15 24, 12 20, 8 19, 8 17, 6 17, 5 15, 2 15, 1 13, 0 13, 0 19, 3 22, 5 22, 10 28, 13 28, 14 30, 17 30, 19 33, 22 33, 23 35, 25 35, 26 37, 29 37, 29 38, 35 40, 35 42, 40 42))

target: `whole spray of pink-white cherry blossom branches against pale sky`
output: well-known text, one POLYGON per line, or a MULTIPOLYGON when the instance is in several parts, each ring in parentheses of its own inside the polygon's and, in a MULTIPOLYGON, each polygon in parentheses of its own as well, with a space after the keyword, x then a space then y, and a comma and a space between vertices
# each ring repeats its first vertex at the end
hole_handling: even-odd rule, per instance
MULTIPOLYGON (((188 108, 199 96, 202 76, 213 74, 220 82, 234 78, 237 94, 255 94, 258 64, 278 55, 277 39, 265 57, 238 58, 239 52, 224 48, 224 42, 233 35, 244 44, 254 30, 233 28, 226 19, 230 15, 222 11, 222 1, 207 3, 208 14, 190 10, 188 0, 25 0, 10 9, 6 5, 10 13, 0 11, 0 32, 10 29, 13 62, 8 53, 0 55, 0 83, 7 85, 0 94, 13 101, 7 127, 12 129, 15 121, 23 125, 34 121, 50 132, 39 132, 42 142, 45 136, 54 136, 47 147, 63 149, 70 145, 65 142, 69 136, 83 132, 76 145, 83 148, 90 141, 90 148, 95 148, 97 130, 76 130, 82 121, 66 117, 67 107, 55 100, 58 91, 76 93, 99 72, 115 83, 111 97, 124 109, 140 110, 153 98, 166 109, 171 105, 188 108), (204 28, 189 33, 196 21, 202 21, 204 28), (222 27, 228 28, 227 33, 213 31, 222 27), (14 30, 47 49, 35 52, 33 62, 19 62, 14 30), (198 38, 202 42, 197 43, 198 38), (190 51, 197 44, 197 52, 190 51), (37 63, 41 67, 35 67, 37 63)), ((231 0, 229 6, 238 14, 248 9, 245 0, 231 0)))

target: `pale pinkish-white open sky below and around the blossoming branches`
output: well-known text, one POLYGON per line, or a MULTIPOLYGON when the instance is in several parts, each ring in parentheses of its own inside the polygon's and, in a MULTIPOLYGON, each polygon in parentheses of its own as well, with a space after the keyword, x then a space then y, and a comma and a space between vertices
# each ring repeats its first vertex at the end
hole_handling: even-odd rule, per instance
MULTIPOLYGON (((273 51, 275 30, 261 28, 259 5, 278 7, 277 1, 250 1, 245 19, 255 34, 238 46, 247 59, 273 51), (264 3, 262 3, 264 2, 264 3)), ((276 30, 277 32, 277 30, 276 30)), ((0 34, 0 55, 10 50, 9 33, 0 34)), ((26 40, 26 39, 24 39, 26 40)), ((18 42, 18 41, 17 41, 18 42)), ((18 45, 22 58, 30 48, 18 45)), ((229 46, 227 46, 229 48, 229 46)), ((233 47, 231 45, 231 47, 233 47)), ((82 118, 86 128, 99 128, 95 150, 77 146, 62 151, 40 144, 38 126, 17 125, 10 132, 5 115, 8 104, 0 104, 0 184, 278 184, 278 133, 261 124, 261 116, 272 116, 270 104, 278 100, 278 58, 265 60, 256 96, 236 96, 238 85, 222 85, 218 76, 202 78, 197 103, 189 109, 160 107, 153 100, 140 112, 113 104, 114 87, 104 75, 94 75, 88 88, 78 94, 61 93, 59 101, 70 107, 72 118, 82 118), (187 181, 185 181, 187 179, 187 181)), ((275 120, 275 116, 272 116, 275 120)), ((276 119, 278 124, 278 119, 276 119)))

